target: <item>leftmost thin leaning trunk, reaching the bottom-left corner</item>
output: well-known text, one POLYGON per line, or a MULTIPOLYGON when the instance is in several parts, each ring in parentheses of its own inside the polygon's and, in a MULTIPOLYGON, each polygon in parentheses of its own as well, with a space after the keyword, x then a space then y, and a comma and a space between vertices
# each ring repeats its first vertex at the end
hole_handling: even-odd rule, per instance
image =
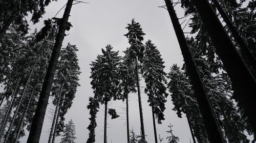
POLYGON ((14 102, 14 99, 16 98, 17 96, 17 93, 18 93, 18 88, 19 88, 19 81, 20 79, 18 79, 17 81, 17 84, 16 84, 16 87, 14 89, 14 92, 13 92, 13 95, 12 95, 12 98, 11 98, 11 101, 9 103, 9 106, 6 110, 6 114, 5 114, 5 118, 2 122, 2 125, 1 125, 1 130, 0 130, 0 142, 2 142, 3 138, 4 138, 4 132, 5 132, 5 128, 7 126, 7 122, 8 122, 8 117, 10 116, 11 114, 11 111, 12 111, 12 107, 13 107, 13 102, 14 102))

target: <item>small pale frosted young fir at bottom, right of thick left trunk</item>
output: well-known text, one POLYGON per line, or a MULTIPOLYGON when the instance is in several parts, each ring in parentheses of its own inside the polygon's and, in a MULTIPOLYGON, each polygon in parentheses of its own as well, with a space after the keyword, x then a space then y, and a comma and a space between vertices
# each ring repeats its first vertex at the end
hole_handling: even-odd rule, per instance
POLYGON ((73 123, 72 119, 68 122, 68 124, 65 125, 64 134, 62 135, 63 138, 61 138, 60 143, 75 143, 75 124, 73 123))

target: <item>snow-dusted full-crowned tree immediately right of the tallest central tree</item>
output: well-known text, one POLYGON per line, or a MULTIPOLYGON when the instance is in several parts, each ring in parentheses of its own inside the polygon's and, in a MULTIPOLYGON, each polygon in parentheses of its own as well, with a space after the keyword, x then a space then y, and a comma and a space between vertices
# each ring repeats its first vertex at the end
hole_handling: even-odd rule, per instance
POLYGON ((165 92, 166 87, 164 83, 167 83, 165 79, 166 73, 163 71, 164 62, 162 61, 161 54, 156 46, 148 40, 145 43, 145 51, 142 64, 142 76, 145 79, 146 88, 145 93, 148 96, 148 102, 152 107, 153 126, 155 133, 155 142, 157 143, 157 132, 156 132, 156 119, 158 124, 161 124, 161 120, 164 120, 163 111, 165 110, 164 103, 168 94, 165 92))

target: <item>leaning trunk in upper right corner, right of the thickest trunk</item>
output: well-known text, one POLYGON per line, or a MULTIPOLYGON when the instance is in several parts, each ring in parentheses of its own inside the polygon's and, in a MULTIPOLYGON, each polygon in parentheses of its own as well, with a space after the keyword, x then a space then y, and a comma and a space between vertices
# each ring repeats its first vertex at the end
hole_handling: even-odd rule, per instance
POLYGON ((221 17, 223 18, 224 22, 227 24, 228 29, 230 30, 232 36, 234 37, 234 40, 236 40, 236 42, 238 43, 238 45, 241 48, 242 52, 245 54, 248 62, 250 63, 250 66, 252 67, 252 69, 255 70, 256 69, 256 59, 253 56, 253 54, 250 52, 247 44, 245 43, 243 38, 240 36, 240 34, 238 33, 236 27, 234 27, 234 25, 232 24, 232 22, 230 21, 230 19, 228 18, 228 16, 224 12, 224 10, 221 8, 221 6, 217 2, 217 0, 211 0, 211 1, 214 3, 215 7, 217 8, 219 13, 221 14, 221 17))

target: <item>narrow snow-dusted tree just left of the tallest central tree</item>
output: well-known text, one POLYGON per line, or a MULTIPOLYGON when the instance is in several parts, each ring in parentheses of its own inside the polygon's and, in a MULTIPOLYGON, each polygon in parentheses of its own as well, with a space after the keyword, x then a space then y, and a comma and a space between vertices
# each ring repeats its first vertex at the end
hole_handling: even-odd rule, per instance
POLYGON ((119 89, 122 92, 122 100, 126 100, 126 132, 127 132, 127 142, 130 140, 130 129, 129 129, 129 100, 128 95, 131 92, 136 92, 136 72, 135 63, 129 58, 129 49, 124 51, 125 55, 122 58, 122 62, 119 66, 119 74, 121 82, 119 84, 119 89))

